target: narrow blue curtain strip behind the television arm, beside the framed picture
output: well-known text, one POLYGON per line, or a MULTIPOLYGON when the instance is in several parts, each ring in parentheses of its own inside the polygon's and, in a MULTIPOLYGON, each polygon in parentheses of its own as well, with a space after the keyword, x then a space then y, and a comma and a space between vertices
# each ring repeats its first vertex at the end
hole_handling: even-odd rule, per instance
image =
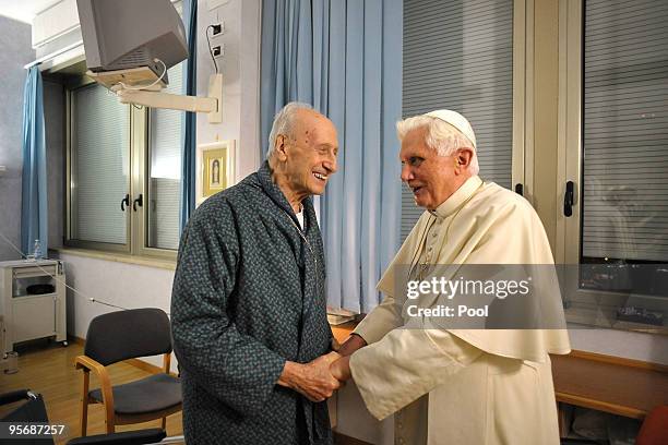
MULTIPOLYGON (((198 92, 198 0, 183 1, 183 19, 188 35, 188 61, 183 67, 183 93, 196 96, 198 92)), ((183 230, 188 218, 195 208, 195 159, 196 159, 196 113, 187 111, 183 115, 181 154, 181 208, 179 228, 183 230)))

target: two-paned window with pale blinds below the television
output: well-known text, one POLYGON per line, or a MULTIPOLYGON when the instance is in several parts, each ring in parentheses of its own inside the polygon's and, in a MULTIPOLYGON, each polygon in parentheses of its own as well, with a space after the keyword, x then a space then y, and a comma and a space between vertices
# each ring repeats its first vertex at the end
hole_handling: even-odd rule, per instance
MULTIPOLYGON (((168 71, 166 92, 180 94, 181 71, 181 64, 168 71)), ((67 244, 174 256, 182 112, 122 105, 95 83, 68 94, 67 244)))

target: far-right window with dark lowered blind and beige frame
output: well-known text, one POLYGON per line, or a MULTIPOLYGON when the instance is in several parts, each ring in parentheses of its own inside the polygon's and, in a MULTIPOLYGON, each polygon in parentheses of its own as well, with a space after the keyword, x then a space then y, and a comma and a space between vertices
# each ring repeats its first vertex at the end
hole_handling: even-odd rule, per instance
POLYGON ((653 324, 668 315, 668 4, 574 1, 561 14, 572 320, 653 324))

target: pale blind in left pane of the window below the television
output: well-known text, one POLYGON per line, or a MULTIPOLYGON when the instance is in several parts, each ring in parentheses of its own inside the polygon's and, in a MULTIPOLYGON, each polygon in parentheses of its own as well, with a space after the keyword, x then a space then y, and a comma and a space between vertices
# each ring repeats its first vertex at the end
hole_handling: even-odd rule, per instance
POLYGON ((94 84, 72 94, 72 226, 82 241, 127 243, 130 115, 104 86, 94 84))

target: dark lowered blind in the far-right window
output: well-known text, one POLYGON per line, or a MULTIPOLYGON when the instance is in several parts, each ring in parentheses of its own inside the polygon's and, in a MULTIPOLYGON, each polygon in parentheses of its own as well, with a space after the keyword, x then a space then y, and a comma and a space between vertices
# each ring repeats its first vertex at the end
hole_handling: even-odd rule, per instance
POLYGON ((668 261, 668 3, 587 0, 583 256, 668 261))

